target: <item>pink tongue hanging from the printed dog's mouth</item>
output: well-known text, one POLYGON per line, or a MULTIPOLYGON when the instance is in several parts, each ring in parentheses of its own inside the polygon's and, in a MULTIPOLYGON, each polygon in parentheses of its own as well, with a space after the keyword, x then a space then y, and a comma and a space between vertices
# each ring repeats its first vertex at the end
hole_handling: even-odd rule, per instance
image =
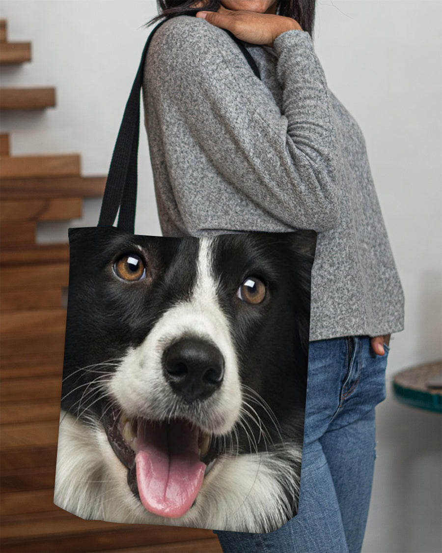
POLYGON ((192 507, 206 470, 198 457, 198 432, 181 420, 139 426, 136 480, 151 513, 177 518, 192 507))

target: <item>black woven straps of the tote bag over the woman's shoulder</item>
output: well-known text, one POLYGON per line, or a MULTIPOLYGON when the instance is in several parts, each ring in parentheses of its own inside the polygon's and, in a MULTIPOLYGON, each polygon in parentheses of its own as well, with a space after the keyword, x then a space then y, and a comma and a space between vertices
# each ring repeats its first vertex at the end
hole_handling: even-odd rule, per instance
MULTIPOLYGON (((189 15, 193 15, 194 13, 191 12, 189 15)), ((144 62, 152 36, 167 20, 162 20, 152 29, 141 55, 140 65, 124 109, 123 120, 112 154, 111 166, 109 167, 98 220, 99 227, 113 226, 119 210, 117 227, 131 233, 135 229, 138 142, 140 135, 140 91, 143 85, 144 62)), ((238 44, 255 76, 261 79, 255 60, 244 44, 233 33, 228 30, 226 32, 238 44)))

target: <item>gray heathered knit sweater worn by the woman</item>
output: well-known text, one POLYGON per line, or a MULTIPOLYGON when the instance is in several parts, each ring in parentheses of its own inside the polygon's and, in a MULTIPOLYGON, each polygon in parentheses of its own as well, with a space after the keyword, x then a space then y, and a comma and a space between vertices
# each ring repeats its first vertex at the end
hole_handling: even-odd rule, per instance
POLYGON ((262 81, 204 19, 170 19, 152 38, 143 97, 162 233, 314 229, 310 340, 402 330, 364 137, 311 36, 245 46, 262 81))

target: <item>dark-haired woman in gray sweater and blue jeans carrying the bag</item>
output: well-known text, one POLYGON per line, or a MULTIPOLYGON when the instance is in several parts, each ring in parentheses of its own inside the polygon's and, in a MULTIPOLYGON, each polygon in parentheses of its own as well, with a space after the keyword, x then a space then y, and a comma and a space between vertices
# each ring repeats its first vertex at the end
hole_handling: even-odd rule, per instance
POLYGON ((364 137, 313 49, 314 0, 159 4, 159 17, 196 7, 162 25, 145 65, 162 232, 318 232, 298 515, 269 534, 215 533, 235 553, 360 551, 404 300, 364 137))

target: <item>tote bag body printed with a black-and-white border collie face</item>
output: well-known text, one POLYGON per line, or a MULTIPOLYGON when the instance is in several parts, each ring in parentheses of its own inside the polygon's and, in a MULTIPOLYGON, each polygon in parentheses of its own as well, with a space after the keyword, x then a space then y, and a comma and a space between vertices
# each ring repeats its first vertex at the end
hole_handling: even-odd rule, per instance
POLYGON ((316 233, 70 229, 54 501, 269 532, 297 513, 316 233))

